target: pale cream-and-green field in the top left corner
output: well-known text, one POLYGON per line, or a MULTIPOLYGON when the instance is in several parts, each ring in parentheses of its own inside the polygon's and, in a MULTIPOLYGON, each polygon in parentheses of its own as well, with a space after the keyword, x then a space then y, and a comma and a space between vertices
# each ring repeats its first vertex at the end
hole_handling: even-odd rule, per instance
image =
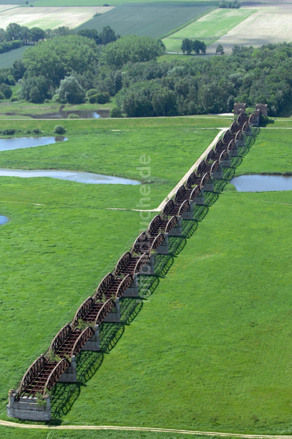
POLYGON ((0 22, 3 28, 11 22, 25 25, 29 28, 40 27, 42 29, 54 29, 59 26, 75 28, 83 22, 87 22, 96 12, 110 11, 112 6, 94 7, 16 7, 0 12, 0 22))

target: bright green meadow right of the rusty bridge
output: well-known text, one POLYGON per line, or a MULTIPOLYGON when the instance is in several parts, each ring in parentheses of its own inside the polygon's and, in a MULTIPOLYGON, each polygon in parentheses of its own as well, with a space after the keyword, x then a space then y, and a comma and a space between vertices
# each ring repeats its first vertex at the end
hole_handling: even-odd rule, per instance
MULTIPOLYGON (((289 148, 287 131, 277 130, 278 144, 261 148, 255 166, 252 151, 270 136, 261 130, 249 154, 233 164, 242 159, 241 166, 266 172, 271 155, 278 157, 275 169, 291 170, 286 149, 279 151, 289 148)), ((177 157, 169 155, 168 166, 177 157)), ((291 239, 283 230, 291 228, 291 193, 227 191, 213 204, 216 198, 206 196, 196 220, 184 223, 184 237, 171 238, 171 254, 157 257, 153 294, 132 309, 131 324, 125 322, 133 301, 124 299, 123 322, 103 325, 102 352, 81 354, 87 368, 79 356, 79 382, 56 386, 53 414, 64 424, 290 432, 291 239)), ((19 243, 16 230, 15 238, 19 243)))

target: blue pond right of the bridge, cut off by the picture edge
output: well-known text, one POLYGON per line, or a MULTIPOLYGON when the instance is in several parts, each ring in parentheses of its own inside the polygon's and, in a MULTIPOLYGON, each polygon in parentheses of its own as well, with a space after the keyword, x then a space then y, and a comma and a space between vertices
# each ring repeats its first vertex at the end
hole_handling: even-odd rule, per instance
POLYGON ((230 183, 239 192, 292 191, 291 175, 241 175, 230 183))

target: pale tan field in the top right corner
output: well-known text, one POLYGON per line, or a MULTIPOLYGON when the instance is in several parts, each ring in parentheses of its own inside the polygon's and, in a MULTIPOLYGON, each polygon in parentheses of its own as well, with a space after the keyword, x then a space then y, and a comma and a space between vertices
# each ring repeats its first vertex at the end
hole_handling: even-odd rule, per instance
POLYGON ((225 53, 230 54, 235 44, 259 47, 283 41, 292 41, 291 5, 277 4, 275 7, 256 4, 254 14, 220 37, 208 50, 216 50, 216 45, 221 43, 225 53))

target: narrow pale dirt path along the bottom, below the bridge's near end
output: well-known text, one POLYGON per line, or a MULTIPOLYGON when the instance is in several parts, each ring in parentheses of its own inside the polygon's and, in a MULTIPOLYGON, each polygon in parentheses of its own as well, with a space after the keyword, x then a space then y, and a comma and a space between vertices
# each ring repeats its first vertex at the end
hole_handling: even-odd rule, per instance
POLYGON ((157 428, 157 427, 121 427, 118 425, 56 425, 49 427, 48 425, 27 425, 18 424, 17 422, 0 421, 0 425, 4 427, 33 428, 46 430, 119 430, 131 432, 161 432, 161 433, 180 433, 184 435, 199 436, 221 436, 221 437, 237 437, 249 439, 292 439, 292 436, 285 435, 245 435, 240 433, 220 433, 220 432, 199 432, 196 430, 176 430, 175 428, 157 428))

